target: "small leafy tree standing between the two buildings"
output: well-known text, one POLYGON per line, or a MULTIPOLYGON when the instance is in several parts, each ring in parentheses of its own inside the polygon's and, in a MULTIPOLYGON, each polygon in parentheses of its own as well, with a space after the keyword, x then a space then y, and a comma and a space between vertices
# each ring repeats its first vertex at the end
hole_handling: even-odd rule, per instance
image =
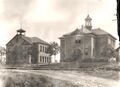
POLYGON ((51 42, 47 48, 47 53, 50 54, 50 56, 54 55, 54 60, 56 61, 56 55, 59 53, 59 45, 56 42, 51 42))

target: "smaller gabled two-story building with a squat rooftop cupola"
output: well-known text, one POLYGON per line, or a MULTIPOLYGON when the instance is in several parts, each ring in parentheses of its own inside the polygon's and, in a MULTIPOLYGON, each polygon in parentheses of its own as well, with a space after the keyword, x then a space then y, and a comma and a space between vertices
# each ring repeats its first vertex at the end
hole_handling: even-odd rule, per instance
POLYGON ((49 44, 37 37, 25 36, 25 30, 17 34, 6 44, 7 64, 48 64, 51 56, 46 53, 49 44))

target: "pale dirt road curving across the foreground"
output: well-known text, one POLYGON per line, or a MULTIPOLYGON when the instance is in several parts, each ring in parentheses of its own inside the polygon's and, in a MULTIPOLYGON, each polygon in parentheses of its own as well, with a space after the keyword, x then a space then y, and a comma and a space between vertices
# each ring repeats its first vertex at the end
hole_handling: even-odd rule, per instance
MULTIPOLYGON (((98 78, 76 71, 54 71, 54 70, 12 70, 15 72, 32 73, 36 75, 48 76, 53 79, 68 81, 83 87, 120 87, 120 81, 98 78)), ((7 70, 11 72, 11 70, 7 70)))

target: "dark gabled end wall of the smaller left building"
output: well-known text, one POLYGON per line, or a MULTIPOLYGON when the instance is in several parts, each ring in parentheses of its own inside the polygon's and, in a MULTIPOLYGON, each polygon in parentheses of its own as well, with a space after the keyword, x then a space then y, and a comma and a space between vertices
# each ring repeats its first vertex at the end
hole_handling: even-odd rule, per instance
POLYGON ((7 64, 24 64, 29 63, 28 51, 31 45, 28 44, 19 35, 15 36, 6 46, 6 63, 7 64))

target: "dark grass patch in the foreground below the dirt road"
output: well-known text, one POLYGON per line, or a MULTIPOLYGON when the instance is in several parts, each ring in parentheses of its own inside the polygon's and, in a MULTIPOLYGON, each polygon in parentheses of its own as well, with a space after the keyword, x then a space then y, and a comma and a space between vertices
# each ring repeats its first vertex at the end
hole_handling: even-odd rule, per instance
POLYGON ((0 79, 4 82, 4 86, 0 87, 78 87, 67 81, 30 73, 4 72, 0 75, 0 79))

